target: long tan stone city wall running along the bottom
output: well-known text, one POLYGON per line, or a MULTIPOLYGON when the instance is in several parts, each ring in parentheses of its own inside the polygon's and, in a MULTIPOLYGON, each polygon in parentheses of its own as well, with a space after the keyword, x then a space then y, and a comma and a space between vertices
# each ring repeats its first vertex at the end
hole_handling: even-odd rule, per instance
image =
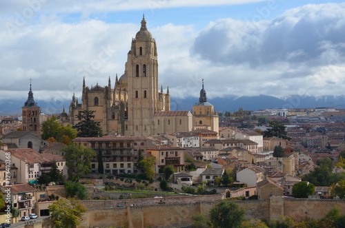
MULTIPOLYGON (((210 209, 219 203, 221 196, 186 196, 150 198, 139 200, 83 201, 88 213, 80 227, 181 227, 191 225, 192 217, 203 214, 209 217, 210 209), (160 203, 164 200, 164 203, 160 203), (132 206, 131 206, 132 204, 132 206), (123 205, 125 207, 117 207, 123 205)), ((248 219, 277 220, 288 216, 296 221, 322 218, 334 205, 345 214, 345 200, 284 199, 235 201, 246 209, 248 219)))

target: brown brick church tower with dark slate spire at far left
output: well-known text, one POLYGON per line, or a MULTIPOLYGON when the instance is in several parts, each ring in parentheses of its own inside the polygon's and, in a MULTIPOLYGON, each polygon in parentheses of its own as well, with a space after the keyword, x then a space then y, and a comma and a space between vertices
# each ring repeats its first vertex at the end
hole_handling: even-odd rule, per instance
POLYGON ((30 82, 30 91, 28 93, 28 100, 24 103, 24 106, 21 107, 21 112, 23 116, 23 131, 32 132, 37 134, 38 136, 41 135, 40 132, 40 123, 39 123, 39 114, 40 114, 40 107, 34 102, 34 94, 31 90, 31 82, 30 82))

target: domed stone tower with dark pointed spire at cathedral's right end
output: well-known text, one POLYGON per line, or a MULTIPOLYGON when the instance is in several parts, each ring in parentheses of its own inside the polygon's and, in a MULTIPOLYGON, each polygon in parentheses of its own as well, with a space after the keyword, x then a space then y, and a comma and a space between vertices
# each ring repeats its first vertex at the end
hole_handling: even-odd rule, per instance
POLYGON ((207 101, 204 79, 202 80, 199 103, 193 106, 193 116, 195 128, 206 128, 219 132, 219 116, 215 112, 215 107, 207 101))

